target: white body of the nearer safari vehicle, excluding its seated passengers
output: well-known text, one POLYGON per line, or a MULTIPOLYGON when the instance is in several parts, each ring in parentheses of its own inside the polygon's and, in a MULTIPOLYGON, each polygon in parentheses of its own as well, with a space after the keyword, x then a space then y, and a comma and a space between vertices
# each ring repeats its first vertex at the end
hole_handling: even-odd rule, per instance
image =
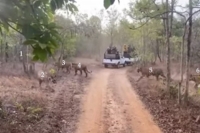
POLYGON ((109 65, 110 66, 115 66, 115 67, 119 67, 119 66, 126 66, 126 62, 125 62, 125 58, 122 56, 122 54, 108 54, 105 53, 104 54, 104 59, 103 59, 103 64, 104 67, 107 68, 109 65))

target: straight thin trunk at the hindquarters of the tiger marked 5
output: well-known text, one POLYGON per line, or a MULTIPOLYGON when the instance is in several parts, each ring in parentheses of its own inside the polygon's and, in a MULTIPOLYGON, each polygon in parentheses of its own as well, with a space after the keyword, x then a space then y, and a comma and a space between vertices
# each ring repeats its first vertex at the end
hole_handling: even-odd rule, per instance
POLYGON ((166 0, 166 44, 167 44, 167 90, 170 90, 170 30, 169 30, 169 1, 166 0))

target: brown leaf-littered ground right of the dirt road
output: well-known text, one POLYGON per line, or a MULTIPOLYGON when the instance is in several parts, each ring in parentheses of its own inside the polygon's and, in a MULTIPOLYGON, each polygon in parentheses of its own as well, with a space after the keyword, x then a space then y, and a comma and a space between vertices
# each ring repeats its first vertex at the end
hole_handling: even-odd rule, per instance
MULTIPOLYGON (((199 133, 200 121, 196 121, 200 115, 199 103, 196 105, 191 102, 188 107, 180 108, 177 105, 177 99, 169 100, 169 98, 162 91, 165 88, 162 80, 157 82, 155 77, 149 79, 144 78, 138 83, 136 80, 140 74, 136 72, 136 67, 128 71, 128 78, 140 95, 141 100, 146 107, 153 114, 155 121, 165 133, 199 133)), ((172 78, 179 79, 178 72, 173 70, 172 78)), ((190 83, 190 92, 193 91, 193 83, 190 83)), ((192 94, 191 93, 191 94, 192 94)), ((197 99, 199 96, 195 97, 197 99)), ((194 98, 194 97, 193 97, 194 98)))

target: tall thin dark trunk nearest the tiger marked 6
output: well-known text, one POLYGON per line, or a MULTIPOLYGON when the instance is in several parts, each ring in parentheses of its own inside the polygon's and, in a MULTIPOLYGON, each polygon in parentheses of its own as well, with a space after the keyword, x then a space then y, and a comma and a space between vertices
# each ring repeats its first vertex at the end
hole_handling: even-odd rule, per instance
POLYGON ((192 40, 192 0, 189 0, 189 29, 188 29, 188 38, 187 38, 187 57, 186 57, 186 90, 184 101, 185 104, 188 103, 188 87, 189 87, 189 72, 190 72, 190 48, 192 40))

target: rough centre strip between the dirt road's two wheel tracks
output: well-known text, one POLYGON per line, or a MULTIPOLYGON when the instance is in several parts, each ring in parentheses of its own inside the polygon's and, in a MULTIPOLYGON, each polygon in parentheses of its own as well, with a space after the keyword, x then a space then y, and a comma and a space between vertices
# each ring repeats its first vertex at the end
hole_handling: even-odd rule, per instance
POLYGON ((131 133, 131 126, 127 120, 123 101, 116 92, 116 84, 112 72, 109 76, 109 84, 106 93, 106 105, 104 109, 104 133, 131 133))

